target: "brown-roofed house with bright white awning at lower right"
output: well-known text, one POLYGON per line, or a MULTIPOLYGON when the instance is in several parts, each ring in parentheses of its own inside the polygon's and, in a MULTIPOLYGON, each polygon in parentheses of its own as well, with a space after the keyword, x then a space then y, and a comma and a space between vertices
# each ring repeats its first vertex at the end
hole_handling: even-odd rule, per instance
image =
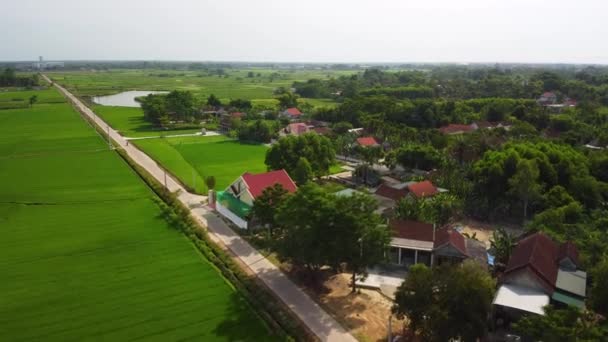
POLYGON ((587 273, 578 268, 576 246, 540 232, 517 243, 500 284, 493 304, 508 318, 543 315, 547 304, 585 307, 587 273))

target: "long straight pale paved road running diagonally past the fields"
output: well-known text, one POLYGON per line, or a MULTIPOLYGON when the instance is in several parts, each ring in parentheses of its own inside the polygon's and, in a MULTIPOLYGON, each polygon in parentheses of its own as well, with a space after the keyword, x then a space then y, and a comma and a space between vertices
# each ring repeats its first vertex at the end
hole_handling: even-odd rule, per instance
MULTIPOLYGON (((50 82, 46 75, 43 77, 50 82)), ((335 319, 315 303, 306 293, 298 288, 281 270, 273 265, 247 241, 236 234, 215 213, 200 203, 205 196, 188 193, 176 180, 145 153, 127 140, 114 129, 101 120, 93 111, 85 106, 78 98, 65 88, 55 83, 59 89, 81 113, 87 115, 120 147, 125 149, 129 156, 145 168, 159 182, 166 184, 167 188, 179 193, 179 200, 191 209, 193 216, 209 229, 209 236, 216 242, 227 246, 251 271, 253 271, 322 341, 356 341, 335 319)))

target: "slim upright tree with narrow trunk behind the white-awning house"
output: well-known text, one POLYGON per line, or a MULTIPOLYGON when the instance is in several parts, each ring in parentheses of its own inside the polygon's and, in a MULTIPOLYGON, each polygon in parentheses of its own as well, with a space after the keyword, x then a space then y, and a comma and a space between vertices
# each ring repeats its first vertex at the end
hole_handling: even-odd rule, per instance
POLYGON ((523 218, 528 217, 528 205, 540 197, 542 186, 539 184, 538 166, 534 160, 521 160, 517 163, 515 174, 509 178, 510 193, 523 204, 523 218))

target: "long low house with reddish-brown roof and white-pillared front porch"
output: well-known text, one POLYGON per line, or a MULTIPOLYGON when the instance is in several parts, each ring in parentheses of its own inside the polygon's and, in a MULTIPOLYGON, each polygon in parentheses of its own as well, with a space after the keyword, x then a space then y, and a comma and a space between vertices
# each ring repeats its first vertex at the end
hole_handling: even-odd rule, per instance
POLYGON ((423 263, 427 266, 456 264, 473 258, 487 265, 485 245, 469 239, 451 227, 414 220, 393 219, 389 222, 393 237, 389 260, 392 265, 409 267, 423 263))

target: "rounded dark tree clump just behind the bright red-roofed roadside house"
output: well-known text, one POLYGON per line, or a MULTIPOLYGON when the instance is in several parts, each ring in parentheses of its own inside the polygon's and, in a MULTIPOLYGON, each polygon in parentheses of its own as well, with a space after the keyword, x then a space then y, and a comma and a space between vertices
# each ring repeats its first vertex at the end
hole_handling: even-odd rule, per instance
POLYGON ((329 168, 335 163, 335 151, 331 141, 318 134, 286 136, 266 152, 265 163, 270 170, 285 169, 296 178, 300 158, 310 164, 315 177, 322 177, 329 174, 329 168))

